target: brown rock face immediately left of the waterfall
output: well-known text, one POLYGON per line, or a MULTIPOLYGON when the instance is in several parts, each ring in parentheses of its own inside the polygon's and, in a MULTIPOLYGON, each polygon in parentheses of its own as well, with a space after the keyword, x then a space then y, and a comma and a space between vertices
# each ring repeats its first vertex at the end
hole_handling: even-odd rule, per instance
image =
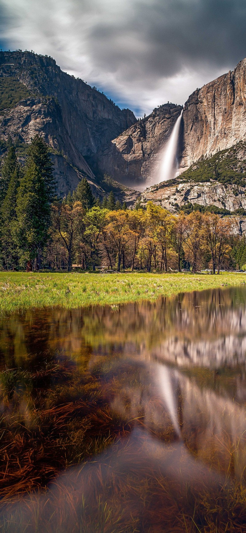
POLYGON ((150 181, 158 173, 162 149, 182 106, 165 104, 113 139, 97 154, 102 172, 129 186, 150 181))

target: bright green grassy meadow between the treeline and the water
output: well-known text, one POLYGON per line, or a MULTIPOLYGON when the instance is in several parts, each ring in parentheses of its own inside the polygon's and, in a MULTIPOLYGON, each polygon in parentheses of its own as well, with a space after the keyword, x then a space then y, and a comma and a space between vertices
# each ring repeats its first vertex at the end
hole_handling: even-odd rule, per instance
POLYGON ((245 284, 241 273, 37 273, 0 272, 0 312, 44 306, 72 309, 155 300, 192 290, 245 284))

